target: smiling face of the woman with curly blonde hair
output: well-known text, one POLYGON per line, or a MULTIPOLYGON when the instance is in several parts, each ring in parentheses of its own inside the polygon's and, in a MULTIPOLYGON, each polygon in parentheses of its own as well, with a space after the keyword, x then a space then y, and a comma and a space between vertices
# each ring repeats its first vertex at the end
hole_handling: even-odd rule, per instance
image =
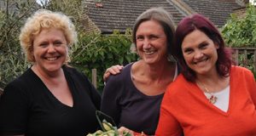
POLYGON ((59 29, 43 29, 33 41, 36 66, 44 72, 59 71, 67 59, 67 41, 59 29))

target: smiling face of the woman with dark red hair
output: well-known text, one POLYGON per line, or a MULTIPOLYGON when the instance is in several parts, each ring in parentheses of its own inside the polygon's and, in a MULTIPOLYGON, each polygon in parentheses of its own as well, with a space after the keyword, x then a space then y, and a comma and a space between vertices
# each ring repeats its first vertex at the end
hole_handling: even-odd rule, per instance
POLYGON ((183 57, 196 75, 206 75, 216 71, 218 45, 199 30, 190 32, 182 42, 183 57))

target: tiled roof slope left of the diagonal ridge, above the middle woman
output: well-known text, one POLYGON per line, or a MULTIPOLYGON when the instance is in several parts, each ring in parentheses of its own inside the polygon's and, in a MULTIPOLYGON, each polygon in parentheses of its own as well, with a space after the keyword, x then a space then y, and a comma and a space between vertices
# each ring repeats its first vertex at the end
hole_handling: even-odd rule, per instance
POLYGON ((166 0, 105 0, 102 1, 102 8, 97 8, 95 1, 87 0, 86 5, 90 20, 102 33, 111 33, 114 29, 125 31, 126 28, 132 28, 137 16, 152 7, 165 8, 172 14, 175 23, 185 16, 166 0))

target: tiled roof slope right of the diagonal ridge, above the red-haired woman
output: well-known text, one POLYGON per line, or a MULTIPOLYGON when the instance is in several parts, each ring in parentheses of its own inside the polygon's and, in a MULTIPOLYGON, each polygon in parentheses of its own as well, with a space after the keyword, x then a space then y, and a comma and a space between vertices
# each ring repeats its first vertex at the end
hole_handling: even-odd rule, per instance
POLYGON ((204 14, 218 27, 224 26, 233 9, 241 8, 235 0, 183 0, 183 2, 195 12, 204 14))

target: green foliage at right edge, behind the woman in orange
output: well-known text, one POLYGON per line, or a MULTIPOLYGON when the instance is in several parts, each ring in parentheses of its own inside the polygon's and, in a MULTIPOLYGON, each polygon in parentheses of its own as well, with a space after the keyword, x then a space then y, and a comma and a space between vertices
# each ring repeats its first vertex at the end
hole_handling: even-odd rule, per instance
MULTIPOLYGON (((256 48, 256 7, 247 5, 243 17, 230 14, 230 20, 222 28, 222 35, 226 45, 231 48, 256 48)), ((238 65, 245 66, 253 71, 256 78, 256 67, 253 65, 255 54, 239 54, 238 65)))

